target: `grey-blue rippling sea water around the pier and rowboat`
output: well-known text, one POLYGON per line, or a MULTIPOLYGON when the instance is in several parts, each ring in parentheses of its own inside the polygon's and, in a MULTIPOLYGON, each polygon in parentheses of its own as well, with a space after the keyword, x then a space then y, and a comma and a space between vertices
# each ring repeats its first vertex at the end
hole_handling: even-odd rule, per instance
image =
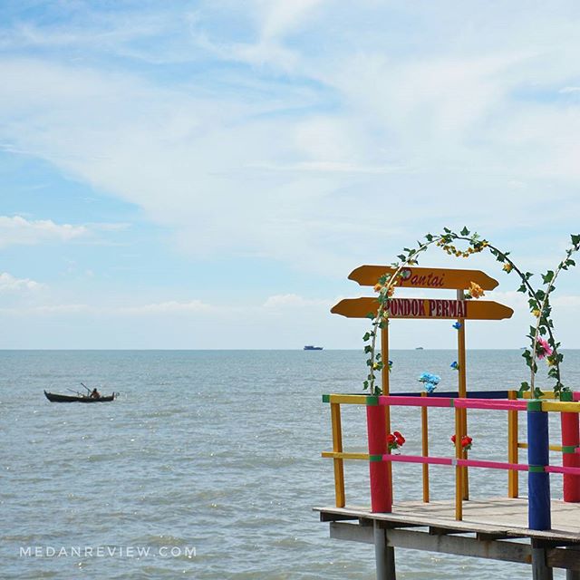
MULTIPOLYGON (((392 352, 391 391, 420 391, 420 372, 454 389, 454 358, 392 352)), ((0 578, 373 577, 372 546, 331 540, 312 511, 333 505, 321 395, 361 391, 361 352, 5 351, 0 363, 0 578), (43 396, 82 391, 80 382, 119 398, 84 405, 43 396)), ((527 379, 518 351, 472 351, 468 367, 473 390, 527 379)), ((563 369, 568 386, 580 385, 580 352, 565 352, 563 369)), ((407 438, 405 452, 419 451, 418 410, 392 411, 392 427, 407 438)), ((449 456, 452 411, 431 411, 430 429, 431 453, 449 456)), ((506 459, 505 412, 470 412, 469 435, 471 457, 506 459)), ((343 440, 365 449, 362 408, 343 408, 343 440)), ((345 478, 347 503, 368 504, 367 464, 347 463, 345 478)), ((431 469, 433 499, 452 498, 453 485, 452 469, 431 469)), ((553 477, 554 497, 560 488, 553 477)), ((395 466, 394 492, 419 499, 420 466, 395 466)), ((507 494, 506 472, 472 469, 470 492, 507 494)), ((474 558, 401 549, 396 557, 399 578, 531 574, 474 558)))

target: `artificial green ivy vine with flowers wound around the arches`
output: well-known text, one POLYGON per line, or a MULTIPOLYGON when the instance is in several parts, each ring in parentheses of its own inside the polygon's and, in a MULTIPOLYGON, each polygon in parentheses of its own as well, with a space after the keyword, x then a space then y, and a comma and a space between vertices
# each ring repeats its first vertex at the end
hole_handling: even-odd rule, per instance
MULTIPOLYGON (((407 266, 416 266, 418 256, 425 252, 431 245, 435 244, 450 256, 470 257, 474 254, 482 252, 484 249, 495 256, 498 262, 502 263, 503 271, 507 274, 516 272, 519 275, 521 285, 517 288, 518 292, 527 294, 530 312, 536 319, 534 325, 530 325, 527 337, 531 341, 530 348, 527 348, 522 356, 526 359, 526 364, 530 369, 530 381, 522 382, 520 386, 520 394, 524 391, 531 390, 535 396, 541 394, 541 390, 536 387, 536 372, 537 359, 546 358, 548 364, 548 376, 556 380, 554 385, 554 394, 559 398, 562 391, 568 389, 562 383, 560 362, 564 360, 564 355, 558 353, 560 343, 556 343, 554 337, 554 323, 551 318, 552 306, 549 302, 550 294, 556 289, 555 282, 562 270, 567 270, 571 266, 575 266, 575 261, 572 255, 580 249, 580 235, 571 235, 571 246, 565 250, 564 259, 558 264, 555 270, 547 270, 546 274, 542 274, 542 285, 535 289, 530 284, 530 278, 533 276, 531 272, 523 272, 513 262, 510 252, 504 252, 498 247, 490 244, 488 240, 480 237, 477 232, 471 233, 467 227, 464 227, 459 233, 453 232, 448 227, 443 228, 443 233, 438 235, 426 234, 425 241, 418 241, 417 247, 403 248, 403 253, 397 256, 399 261, 394 262, 391 266, 394 268, 392 274, 382 275, 377 284, 374 286, 375 292, 378 292, 379 308, 375 313, 367 314, 367 317, 372 320, 372 330, 365 333, 362 340, 368 343, 364 347, 364 352, 369 354, 366 363, 369 366, 369 373, 367 379, 363 382, 365 390, 369 389, 372 394, 381 394, 382 390, 376 385, 375 372, 381 372, 384 364, 382 362, 381 353, 376 353, 376 339, 379 330, 385 328, 389 324, 389 302, 394 293, 395 286, 399 284, 402 270, 407 266), (461 250, 456 247, 453 242, 461 241, 467 242, 467 248, 461 250), (547 336, 547 339, 544 338, 547 336)), ((466 298, 478 298, 483 295, 481 288, 476 284, 471 284, 466 298)))

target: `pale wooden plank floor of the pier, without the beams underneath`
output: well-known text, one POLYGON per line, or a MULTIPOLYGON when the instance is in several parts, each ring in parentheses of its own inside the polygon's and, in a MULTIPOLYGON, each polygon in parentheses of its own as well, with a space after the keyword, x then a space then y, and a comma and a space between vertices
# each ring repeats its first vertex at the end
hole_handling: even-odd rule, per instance
POLYGON ((440 527, 479 534, 530 537, 580 543, 580 504, 552 500, 552 529, 527 528, 527 498, 472 499, 463 503, 463 520, 455 520, 454 501, 405 501, 393 505, 390 514, 372 514, 369 507, 314 507, 323 521, 378 519, 392 527, 405 525, 440 527))

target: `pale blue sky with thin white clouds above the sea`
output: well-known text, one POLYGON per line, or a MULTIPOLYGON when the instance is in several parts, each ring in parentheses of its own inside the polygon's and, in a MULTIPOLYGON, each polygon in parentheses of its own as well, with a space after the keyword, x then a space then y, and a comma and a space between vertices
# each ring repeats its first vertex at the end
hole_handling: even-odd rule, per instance
MULTIPOLYGON (((348 274, 443 227, 553 268, 580 231, 579 24, 575 1, 5 0, 0 348, 362 348, 368 321, 330 314, 370 293, 348 274)), ((469 347, 527 343, 489 256, 420 265, 498 279, 515 314, 469 347)))

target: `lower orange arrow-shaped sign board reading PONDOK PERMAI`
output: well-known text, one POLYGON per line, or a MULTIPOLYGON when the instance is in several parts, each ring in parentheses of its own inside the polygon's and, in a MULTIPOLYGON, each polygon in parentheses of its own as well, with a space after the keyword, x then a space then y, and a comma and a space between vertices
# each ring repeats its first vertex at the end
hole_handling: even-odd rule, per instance
MULTIPOLYGON (((333 314, 347 318, 366 318, 376 314, 376 298, 345 298, 331 309, 333 314)), ((390 318, 467 318, 469 320, 502 320, 514 311, 498 302, 486 300, 440 300, 433 298, 391 298, 390 318)))

